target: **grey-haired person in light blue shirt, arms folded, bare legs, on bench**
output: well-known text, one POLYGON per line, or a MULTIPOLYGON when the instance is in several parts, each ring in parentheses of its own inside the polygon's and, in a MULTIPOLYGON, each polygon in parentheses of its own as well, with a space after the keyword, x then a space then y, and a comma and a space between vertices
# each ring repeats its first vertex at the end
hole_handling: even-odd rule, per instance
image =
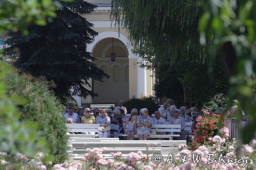
POLYGON ((150 127, 152 126, 152 118, 148 116, 148 110, 143 108, 141 110, 142 116, 137 120, 137 135, 139 140, 146 140, 150 136, 150 127))

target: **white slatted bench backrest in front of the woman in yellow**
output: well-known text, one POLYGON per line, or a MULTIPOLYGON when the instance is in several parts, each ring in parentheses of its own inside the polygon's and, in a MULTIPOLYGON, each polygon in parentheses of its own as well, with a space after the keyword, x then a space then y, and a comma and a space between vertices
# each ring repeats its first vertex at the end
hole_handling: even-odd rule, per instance
POLYGON ((99 132, 99 124, 66 124, 68 132, 99 132))

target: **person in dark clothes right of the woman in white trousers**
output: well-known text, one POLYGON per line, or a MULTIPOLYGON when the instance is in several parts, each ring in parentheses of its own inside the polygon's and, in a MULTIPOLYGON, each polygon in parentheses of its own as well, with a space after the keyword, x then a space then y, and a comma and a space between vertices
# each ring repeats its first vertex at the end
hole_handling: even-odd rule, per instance
POLYGON ((120 128, 123 127, 123 122, 120 114, 120 110, 114 110, 113 115, 110 117, 111 120, 111 134, 114 134, 115 138, 118 138, 118 135, 120 133, 120 128))

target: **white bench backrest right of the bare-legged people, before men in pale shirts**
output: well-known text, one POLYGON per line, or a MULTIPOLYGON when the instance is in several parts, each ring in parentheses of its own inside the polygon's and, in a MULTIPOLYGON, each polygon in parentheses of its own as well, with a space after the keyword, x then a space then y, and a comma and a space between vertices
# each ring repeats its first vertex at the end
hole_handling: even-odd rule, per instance
POLYGON ((156 132, 180 132, 181 125, 152 125, 151 131, 156 132))

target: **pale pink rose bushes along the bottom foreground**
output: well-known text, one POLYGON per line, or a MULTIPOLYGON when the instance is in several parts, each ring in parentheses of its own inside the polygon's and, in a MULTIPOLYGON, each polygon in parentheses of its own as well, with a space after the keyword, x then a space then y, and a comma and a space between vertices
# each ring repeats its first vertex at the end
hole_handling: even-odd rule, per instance
POLYGON ((220 134, 221 136, 216 135, 209 138, 211 142, 201 145, 194 151, 190 150, 186 144, 179 145, 179 151, 173 153, 175 164, 171 164, 166 158, 160 164, 153 164, 151 158, 143 158, 140 151, 132 152, 126 158, 122 157, 120 152, 111 153, 112 159, 105 159, 102 155, 105 149, 93 149, 87 150, 88 153, 82 160, 82 169, 256 169, 255 139, 250 144, 242 145, 238 152, 237 140, 228 138, 228 129, 220 129, 220 134), (183 163, 180 158, 181 154, 186 155, 184 159, 186 161, 183 163), (201 155, 201 157, 199 157, 198 163, 193 163, 193 157, 196 158, 197 155, 201 155), (231 162, 231 160, 237 160, 237 162, 231 162), (228 161, 229 163, 227 163, 228 161))

